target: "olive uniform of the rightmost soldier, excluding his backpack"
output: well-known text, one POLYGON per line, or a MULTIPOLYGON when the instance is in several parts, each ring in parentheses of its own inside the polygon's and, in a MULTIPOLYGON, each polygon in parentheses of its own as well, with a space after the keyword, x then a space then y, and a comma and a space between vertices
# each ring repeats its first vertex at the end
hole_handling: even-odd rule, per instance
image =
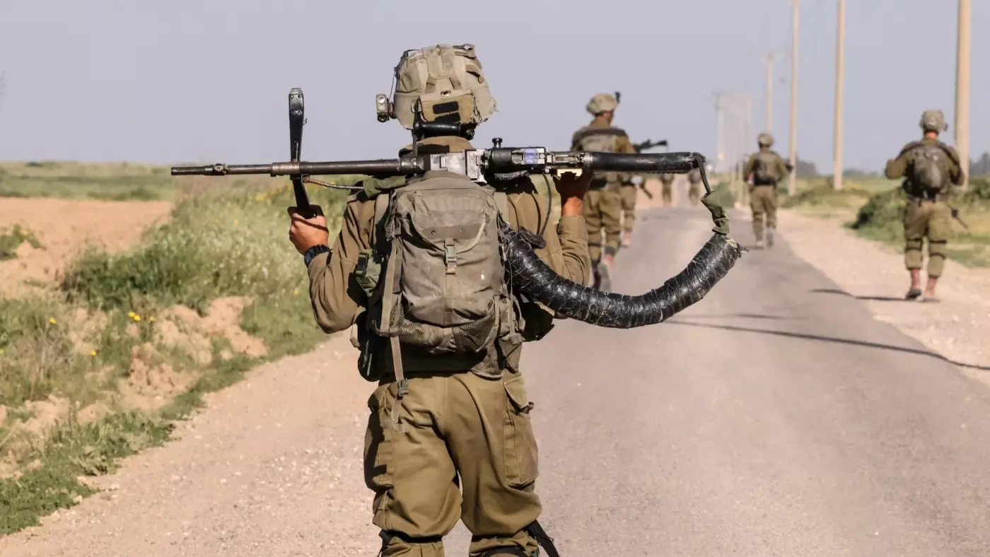
POLYGON ((948 206, 951 184, 961 185, 963 172, 959 155, 949 145, 939 139, 925 138, 908 143, 896 158, 887 161, 884 173, 890 179, 906 177, 903 188, 908 194, 904 208, 904 264, 908 270, 921 269, 923 263, 922 243, 929 240, 928 275, 939 278, 945 264, 945 244, 951 231, 952 210, 948 206), (948 176, 939 191, 927 191, 911 179, 913 155, 922 145, 937 145, 946 156, 948 176))

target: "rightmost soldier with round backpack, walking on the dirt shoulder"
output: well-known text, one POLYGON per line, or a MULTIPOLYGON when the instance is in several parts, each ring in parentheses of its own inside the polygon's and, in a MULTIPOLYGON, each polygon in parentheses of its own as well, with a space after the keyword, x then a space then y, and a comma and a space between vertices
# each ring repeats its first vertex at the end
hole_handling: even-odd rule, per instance
POLYGON ((951 185, 961 185, 964 175, 959 154, 939 140, 939 134, 948 130, 941 111, 925 111, 921 127, 924 138, 906 144, 897 158, 887 161, 884 173, 892 180, 903 177, 901 187, 908 194, 904 208, 904 264, 911 273, 911 287, 905 299, 922 296, 922 242, 928 237, 928 284, 924 300, 934 301, 935 287, 945 265, 949 220, 956 215, 955 209, 948 205, 951 185))

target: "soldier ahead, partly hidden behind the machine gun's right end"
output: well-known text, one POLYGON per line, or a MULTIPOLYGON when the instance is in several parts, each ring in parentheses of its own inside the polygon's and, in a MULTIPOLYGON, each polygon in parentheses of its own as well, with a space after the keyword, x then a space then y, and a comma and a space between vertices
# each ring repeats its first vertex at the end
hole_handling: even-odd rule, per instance
MULTIPOLYGON (((610 93, 599 93, 586 107, 594 116, 591 124, 581 128, 571 138, 571 150, 599 152, 636 152, 626 132, 612 126, 619 99, 610 93)), ((588 226, 588 253, 594 272, 594 287, 612 289, 612 265, 620 248, 623 201, 620 189, 632 177, 617 172, 597 174, 584 200, 584 220, 588 226), (602 232, 605 232, 604 249, 602 232)), ((635 193, 635 187, 634 187, 635 193)))

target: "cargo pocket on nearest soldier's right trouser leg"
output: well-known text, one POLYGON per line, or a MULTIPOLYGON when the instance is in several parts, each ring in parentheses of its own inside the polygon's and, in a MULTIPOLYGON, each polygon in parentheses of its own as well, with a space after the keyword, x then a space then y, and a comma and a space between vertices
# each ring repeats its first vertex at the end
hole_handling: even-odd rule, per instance
POLYGON ((532 484, 539 474, 537 439, 530 418, 533 404, 526 395, 521 375, 506 380, 503 385, 508 395, 504 447, 506 482, 511 487, 524 487, 532 484))

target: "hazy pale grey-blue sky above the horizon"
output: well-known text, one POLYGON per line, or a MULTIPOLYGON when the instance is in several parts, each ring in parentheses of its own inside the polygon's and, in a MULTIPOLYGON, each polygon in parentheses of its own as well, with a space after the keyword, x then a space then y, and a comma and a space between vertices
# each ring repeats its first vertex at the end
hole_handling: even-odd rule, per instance
MULTIPOLYGON (((955 5, 847 2, 846 166, 879 169, 924 109, 951 123, 955 5)), ((798 151, 828 170, 836 1, 801 6, 798 151)), ((375 120, 374 95, 404 49, 438 43, 474 43, 485 65, 499 112, 478 143, 566 148, 588 98, 619 90, 634 139, 710 157, 713 91, 752 93, 762 128, 760 55, 774 50, 787 149, 787 0, 0 0, 0 21, 3 160, 283 160, 291 87, 306 95, 304 158, 394 156, 408 136, 375 120)), ((990 149, 987 28, 990 2, 973 2, 973 156, 990 149)))

